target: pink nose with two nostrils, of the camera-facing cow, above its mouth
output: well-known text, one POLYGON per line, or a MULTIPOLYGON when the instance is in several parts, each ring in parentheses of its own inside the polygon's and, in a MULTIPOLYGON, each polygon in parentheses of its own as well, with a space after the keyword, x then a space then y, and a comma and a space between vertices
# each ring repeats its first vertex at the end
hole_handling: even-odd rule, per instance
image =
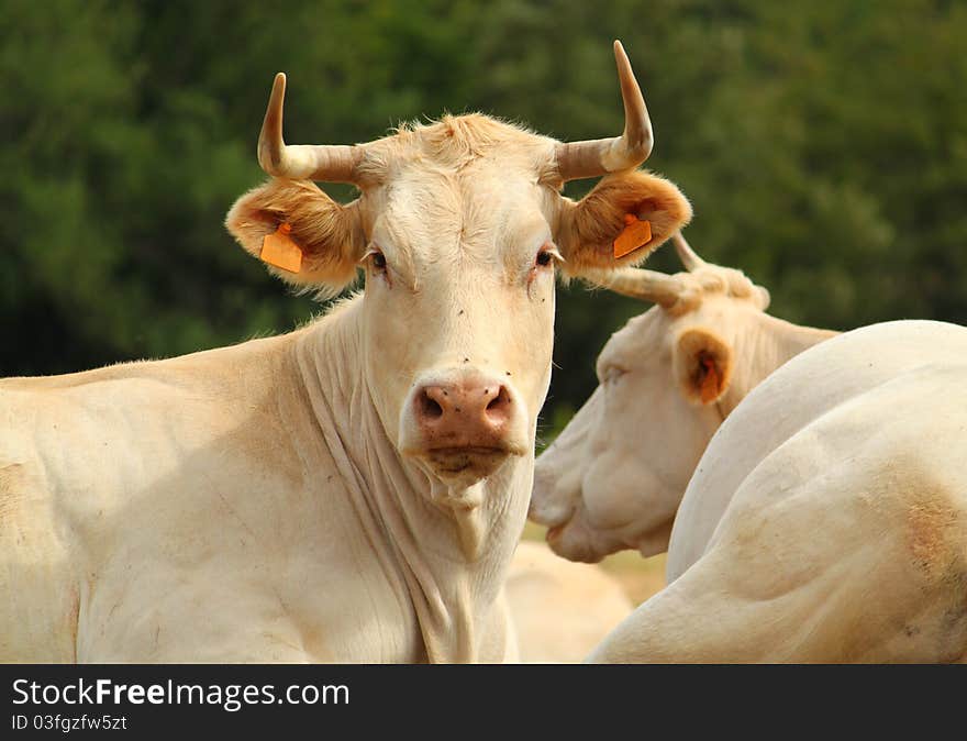
POLYGON ((434 447, 497 447, 514 413, 505 386, 487 379, 427 384, 416 391, 416 422, 434 447))

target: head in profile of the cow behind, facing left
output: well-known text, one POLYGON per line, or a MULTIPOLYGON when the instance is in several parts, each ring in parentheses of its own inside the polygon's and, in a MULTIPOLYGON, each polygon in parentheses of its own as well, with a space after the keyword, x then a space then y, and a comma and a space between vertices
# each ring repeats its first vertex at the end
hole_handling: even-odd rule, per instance
POLYGON ((675 243, 686 273, 630 268, 602 277, 612 290, 657 306, 611 336, 598 357, 598 388, 537 460, 530 517, 574 561, 667 549, 725 397, 742 398, 752 381, 736 372, 736 343, 755 334, 768 292, 738 270, 703 262, 680 234, 675 243))

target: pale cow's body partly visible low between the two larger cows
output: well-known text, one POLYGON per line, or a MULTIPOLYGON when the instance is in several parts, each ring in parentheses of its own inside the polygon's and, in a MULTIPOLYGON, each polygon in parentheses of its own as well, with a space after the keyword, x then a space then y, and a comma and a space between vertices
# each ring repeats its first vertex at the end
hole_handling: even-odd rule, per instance
POLYGON ((576 564, 532 541, 514 553, 507 600, 521 660, 530 663, 581 661, 634 609, 600 566, 576 564))

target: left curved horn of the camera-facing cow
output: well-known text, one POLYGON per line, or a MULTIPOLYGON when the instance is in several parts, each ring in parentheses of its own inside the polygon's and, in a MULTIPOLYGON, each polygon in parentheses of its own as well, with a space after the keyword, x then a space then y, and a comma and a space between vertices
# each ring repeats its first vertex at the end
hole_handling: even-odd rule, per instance
POLYGON ((282 140, 282 102, 286 74, 276 75, 265 120, 258 134, 258 164, 269 175, 293 180, 356 183, 356 167, 363 156, 358 146, 327 144, 287 145, 282 140))

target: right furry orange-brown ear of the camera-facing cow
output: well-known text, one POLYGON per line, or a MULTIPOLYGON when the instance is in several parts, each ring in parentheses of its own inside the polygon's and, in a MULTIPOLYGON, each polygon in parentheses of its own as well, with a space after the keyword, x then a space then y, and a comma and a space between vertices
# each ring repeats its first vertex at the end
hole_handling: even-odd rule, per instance
POLYGON ((642 262, 690 219, 691 206, 673 183, 649 173, 622 173, 601 178, 577 203, 562 198, 555 241, 567 261, 564 272, 579 276, 642 262), (615 258, 614 240, 624 231, 626 214, 651 222, 652 239, 615 258))

